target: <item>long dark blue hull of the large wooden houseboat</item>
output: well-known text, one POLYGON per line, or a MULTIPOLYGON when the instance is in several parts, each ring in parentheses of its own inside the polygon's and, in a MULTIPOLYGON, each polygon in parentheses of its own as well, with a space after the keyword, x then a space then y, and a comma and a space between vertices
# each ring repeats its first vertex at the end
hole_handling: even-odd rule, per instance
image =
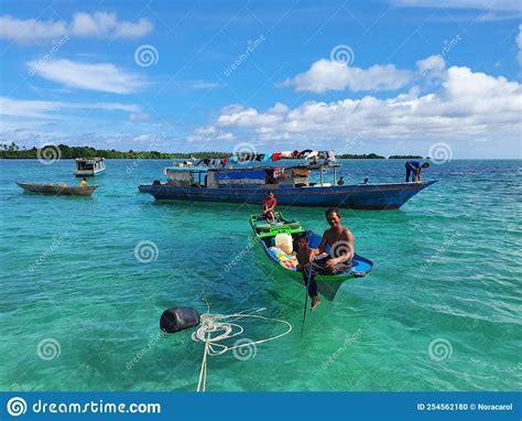
POLYGON ((279 205, 324 206, 352 209, 398 209, 411 197, 435 183, 372 183, 330 187, 180 187, 170 184, 141 184, 140 192, 149 193, 157 201, 177 199, 193 202, 260 204, 272 191, 279 205))

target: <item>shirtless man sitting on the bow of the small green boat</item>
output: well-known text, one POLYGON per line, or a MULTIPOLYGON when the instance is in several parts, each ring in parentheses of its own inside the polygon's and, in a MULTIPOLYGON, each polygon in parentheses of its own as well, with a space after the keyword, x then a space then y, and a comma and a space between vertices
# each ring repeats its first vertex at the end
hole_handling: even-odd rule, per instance
MULTIPOLYGON (((301 266, 303 281, 305 285, 308 284, 312 311, 320 304, 320 301, 317 299, 317 282, 315 281, 315 277, 317 274, 338 274, 347 272, 351 268, 351 259, 354 258, 354 236, 348 228, 342 226, 339 209, 336 207, 329 208, 326 210, 325 217, 330 228, 326 229, 323 234, 319 247, 309 249, 306 265, 301 266), (316 256, 320 256, 325 252, 326 246, 330 248, 329 255, 316 259, 316 256)), ((297 260, 300 260, 300 258, 297 258, 297 260)), ((300 270, 300 268, 297 268, 297 270, 300 270)))

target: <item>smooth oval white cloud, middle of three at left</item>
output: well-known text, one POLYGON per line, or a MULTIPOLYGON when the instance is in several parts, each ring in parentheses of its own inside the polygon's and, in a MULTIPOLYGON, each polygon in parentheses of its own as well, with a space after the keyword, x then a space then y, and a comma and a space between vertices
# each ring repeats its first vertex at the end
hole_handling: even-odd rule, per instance
POLYGON ((89 64, 69 60, 29 62, 31 72, 72 88, 130 94, 144 86, 141 76, 124 72, 110 63, 89 64))

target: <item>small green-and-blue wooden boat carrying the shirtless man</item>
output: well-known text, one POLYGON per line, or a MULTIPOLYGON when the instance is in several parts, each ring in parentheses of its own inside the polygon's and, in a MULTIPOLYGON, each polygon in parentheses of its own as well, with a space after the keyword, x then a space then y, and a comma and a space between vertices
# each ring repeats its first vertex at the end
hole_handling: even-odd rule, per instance
MULTIPOLYGON (((297 250, 297 237, 301 235, 306 235, 308 238, 308 247, 317 248, 320 244, 322 236, 318 234, 306 230, 303 226, 296 220, 286 220, 283 218, 283 215, 280 212, 275 213, 275 224, 267 224, 265 216, 261 215, 251 215, 250 216, 250 226, 252 227, 253 234, 258 242, 262 246, 264 253, 274 263, 283 273, 290 276, 294 280, 298 281, 303 287, 303 274, 297 271, 297 259, 295 256, 283 251, 281 248, 276 247, 276 236, 280 234, 286 234, 292 237, 292 247, 295 251, 297 250)), ((286 237, 287 237, 286 236, 286 237)), ((290 237, 287 237, 290 240, 290 237)), ((326 253, 329 253, 329 247, 325 250, 326 253)), ((317 290, 325 296, 325 299, 333 301, 337 290, 349 279, 352 278, 362 278, 368 274, 373 267, 373 263, 355 253, 351 268, 339 274, 318 274, 315 280, 317 282, 317 290)))

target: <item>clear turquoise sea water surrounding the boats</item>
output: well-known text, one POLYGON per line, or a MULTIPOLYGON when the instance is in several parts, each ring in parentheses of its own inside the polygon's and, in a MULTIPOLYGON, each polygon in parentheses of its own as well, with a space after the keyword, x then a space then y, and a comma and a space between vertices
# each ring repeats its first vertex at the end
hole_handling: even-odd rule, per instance
MULTIPOLYGON (((439 183, 402 209, 345 210, 376 267, 308 314, 303 338, 304 289, 249 246, 259 208, 138 193, 168 163, 128 174, 132 161, 109 160, 83 198, 15 185, 77 183, 73 161, 0 162, 1 390, 195 390, 203 345, 189 331, 160 337, 159 317, 175 305, 205 311, 203 299, 217 313, 267 307, 294 326, 249 358, 210 357, 207 390, 521 389, 522 161, 432 165, 424 179, 439 183), (141 241, 157 247, 155 260, 135 258, 141 241)), ((403 171, 403 161, 344 161, 341 174, 392 181, 403 171)), ((281 210, 326 227, 324 209, 281 210)), ((244 327, 251 339, 282 331, 244 327)))

